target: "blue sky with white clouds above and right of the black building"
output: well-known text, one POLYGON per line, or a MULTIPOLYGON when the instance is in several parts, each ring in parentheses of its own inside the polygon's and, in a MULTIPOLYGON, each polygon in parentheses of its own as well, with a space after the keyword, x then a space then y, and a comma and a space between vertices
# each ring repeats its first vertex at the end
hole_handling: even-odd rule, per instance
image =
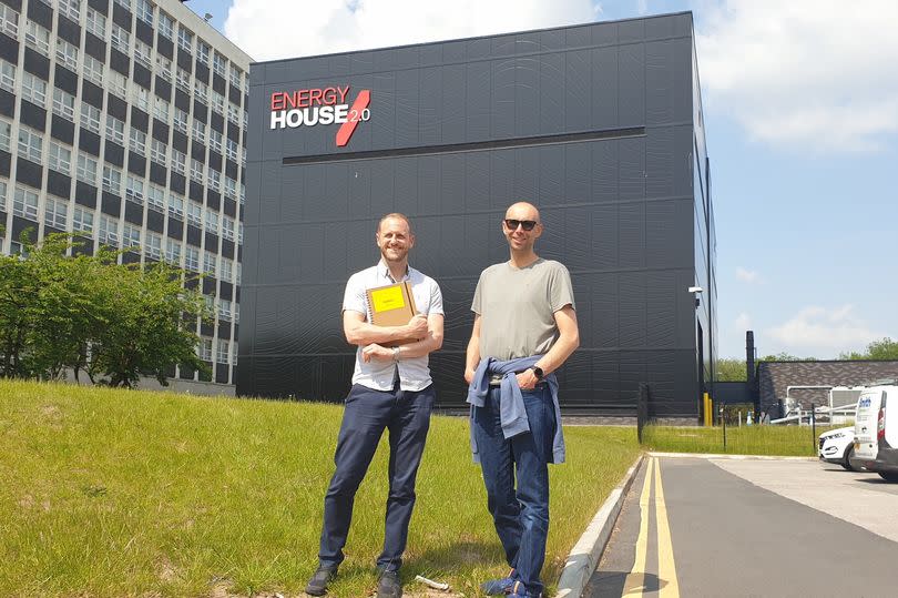
POLYGON ((717 233, 718 356, 898 339, 898 2, 190 0, 273 60, 691 10, 717 233))

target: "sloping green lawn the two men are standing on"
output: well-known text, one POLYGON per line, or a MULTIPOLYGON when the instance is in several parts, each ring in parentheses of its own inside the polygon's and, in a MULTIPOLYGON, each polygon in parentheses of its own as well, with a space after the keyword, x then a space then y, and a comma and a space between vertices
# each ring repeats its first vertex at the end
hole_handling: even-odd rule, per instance
MULTIPOLYGON (((317 561, 341 408, 0 381, 0 596, 300 595, 317 561)), ((552 466, 543 578, 640 452, 634 428, 571 427, 552 466)), ((375 585, 385 443, 331 596, 375 585)), ((435 417, 404 579, 476 596, 506 571, 468 424, 435 417)))

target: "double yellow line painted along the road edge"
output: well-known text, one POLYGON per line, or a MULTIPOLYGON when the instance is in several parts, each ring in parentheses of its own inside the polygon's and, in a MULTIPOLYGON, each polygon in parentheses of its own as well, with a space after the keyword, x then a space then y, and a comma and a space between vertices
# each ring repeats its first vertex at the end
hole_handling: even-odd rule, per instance
POLYGON ((680 584, 676 580, 676 566, 671 544, 671 525, 667 521, 667 505, 664 503, 664 488, 661 485, 661 464, 649 457, 645 480, 640 495, 640 535, 636 537, 636 558, 633 569, 624 580, 623 596, 646 592, 645 565, 649 553, 649 518, 652 495, 652 479, 655 482, 655 524, 657 531, 657 595, 661 598, 680 598, 680 584), (652 475, 654 472, 654 476, 652 475))

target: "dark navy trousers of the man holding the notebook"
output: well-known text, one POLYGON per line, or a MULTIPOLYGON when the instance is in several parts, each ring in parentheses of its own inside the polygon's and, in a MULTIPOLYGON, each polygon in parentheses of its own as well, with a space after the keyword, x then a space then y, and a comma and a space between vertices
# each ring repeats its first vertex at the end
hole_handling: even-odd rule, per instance
POLYGON ((325 567, 343 562, 343 547, 349 534, 356 490, 368 472, 384 430, 389 430, 390 489, 387 496, 387 520, 384 551, 377 566, 397 570, 408 540, 408 524, 415 507, 415 478, 430 427, 430 412, 436 401, 433 385, 424 391, 374 391, 353 385, 346 397, 337 450, 337 468, 325 495, 324 525, 318 560, 325 567))

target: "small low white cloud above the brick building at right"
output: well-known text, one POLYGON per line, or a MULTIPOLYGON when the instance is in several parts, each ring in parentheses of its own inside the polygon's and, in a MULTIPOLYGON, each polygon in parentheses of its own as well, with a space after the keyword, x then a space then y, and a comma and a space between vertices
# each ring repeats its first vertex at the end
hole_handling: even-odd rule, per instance
POLYGON ((808 306, 794 317, 765 331, 787 353, 799 357, 837 357, 839 353, 861 351, 870 341, 888 336, 854 313, 853 305, 833 310, 808 306))

